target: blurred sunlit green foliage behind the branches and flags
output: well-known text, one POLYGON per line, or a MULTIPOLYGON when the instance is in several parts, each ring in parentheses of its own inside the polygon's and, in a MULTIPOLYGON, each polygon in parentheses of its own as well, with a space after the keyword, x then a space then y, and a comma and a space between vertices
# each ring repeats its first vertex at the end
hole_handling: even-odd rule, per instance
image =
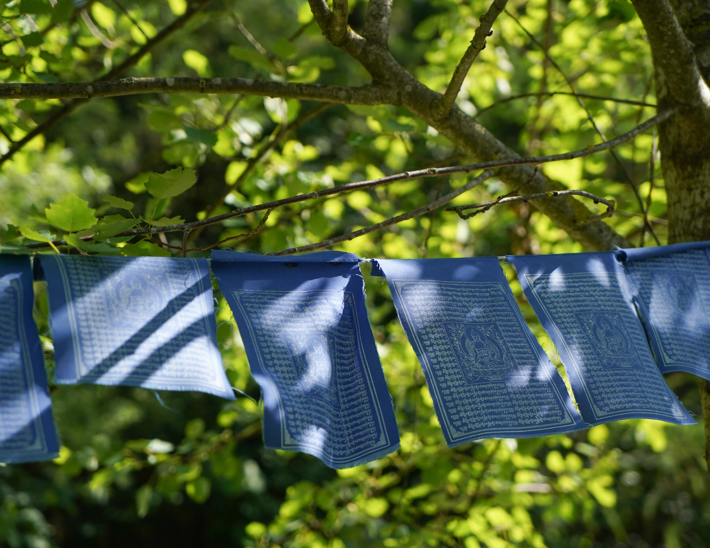
MULTIPOLYGON (((349 4, 350 24, 359 30, 366 2, 349 4)), ((73 82, 121 65, 188 6, 185 0, 13 0, 0 1, 0 8, 0 78, 73 82)), ((391 51, 427 86, 443 91, 487 8, 481 0, 397 0, 391 51)), ((521 155, 576 150, 654 113, 650 52, 628 1, 511 0, 508 10, 457 99, 506 145, 521 155), (582 108, 572 91, 597 98, 585 97, 582 108)), ((126 75, 368 82, 362 67, 327 44, 301 0, 215 0, 126 75)), ((58 100, 0 102, 0 154, 61 108, 58 100)), ((113 222, 118 213, 139 225, 160 216, 190 221, 471 158, 403 108, 173 94, 94 99, 0 161, 0 235, 8 245, 21 245, 29 240, 12 225, 24 227, 23 235, 35 230, 51 239, 61 230, 48 222, 45 208, 70 194, 88 201, 92 215, 114 216, 113 222), (195 170, 197 184, 163 200, 146 192, 148 174, 175 167, 195 170), (135 205, 112 208, 105 194, 135 205)), ((616 157, 603 153, 541 169, 571 189, 614 198, 618 209, 608 223, 634 245, 665 243, 665 190, 652 133, 618 147, 616 157)), ((260 233, 236 240, 236 248, 266 253, 318 242, 420 207, 465 179, 405 181, 279 208, 260 233)), ((489 179, 456 203, 503 192, 489 179)), ((192 245, 249 232, 261 216, 195 231, 192 245)), ((131 243, 133 252, 165 255, 175 253, 165 245, 181 245, 181 235, 131 243)), ((528 203, 497 206, 469 220, 438 210, 337 249, 388 258, 582 251, 528 203)), ((121 248, 114 245, 114 252, 121 248)), ((630 420, 447 449, 386 284, 363 268, 400 426, 399 452, 333 471, 304 454, 264 449, 258 387, 217 291, 224 364, 245 396, 224 402, 198 393, 53 386, 62 452, 55 462, 0 466, 0 546, 706 544, 702 425, 630 420)), ((530 328, 559 368, 514 271, 506 272, 530 328)), ((42 284, 35 289, 35 320, 51 374, 45 290, 42 284)), ((667 380, 699 414, 694 378, 672 374, 667 380)))

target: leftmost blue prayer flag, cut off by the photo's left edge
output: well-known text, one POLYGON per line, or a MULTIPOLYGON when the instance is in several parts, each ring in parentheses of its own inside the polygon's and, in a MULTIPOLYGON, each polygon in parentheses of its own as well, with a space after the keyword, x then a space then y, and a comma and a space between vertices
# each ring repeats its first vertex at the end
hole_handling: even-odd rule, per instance
POLYGON ((33 301, 30 259, 0 255, 0 462, 59 452, 33 301))

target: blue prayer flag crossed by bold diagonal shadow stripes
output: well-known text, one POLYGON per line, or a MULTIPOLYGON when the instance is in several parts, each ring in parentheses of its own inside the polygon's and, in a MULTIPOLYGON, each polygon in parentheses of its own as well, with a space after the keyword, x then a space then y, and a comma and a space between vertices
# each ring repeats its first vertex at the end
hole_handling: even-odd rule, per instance
POLYGON ((206 259, 40 255, 58 384, 196 390, 234 399, 206 259))

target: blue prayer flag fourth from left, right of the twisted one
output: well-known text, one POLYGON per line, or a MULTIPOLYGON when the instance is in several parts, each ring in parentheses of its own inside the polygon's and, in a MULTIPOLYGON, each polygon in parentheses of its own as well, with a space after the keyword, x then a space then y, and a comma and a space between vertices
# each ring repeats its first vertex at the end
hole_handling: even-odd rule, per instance
POLYGON ((373 260, 424 371, 449 447, 585 425, 495 257, 373 260))

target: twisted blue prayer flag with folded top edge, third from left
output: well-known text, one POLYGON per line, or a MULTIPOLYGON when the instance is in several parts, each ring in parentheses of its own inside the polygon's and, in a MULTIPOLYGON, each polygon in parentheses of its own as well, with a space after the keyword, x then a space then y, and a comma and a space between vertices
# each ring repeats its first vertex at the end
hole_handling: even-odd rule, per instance
POLYGON ((310 453, 332 468, 394 452, 397 424, 358 257, 254 257, 212 252, 212 271, 261 386, 266 447, 310 453))

